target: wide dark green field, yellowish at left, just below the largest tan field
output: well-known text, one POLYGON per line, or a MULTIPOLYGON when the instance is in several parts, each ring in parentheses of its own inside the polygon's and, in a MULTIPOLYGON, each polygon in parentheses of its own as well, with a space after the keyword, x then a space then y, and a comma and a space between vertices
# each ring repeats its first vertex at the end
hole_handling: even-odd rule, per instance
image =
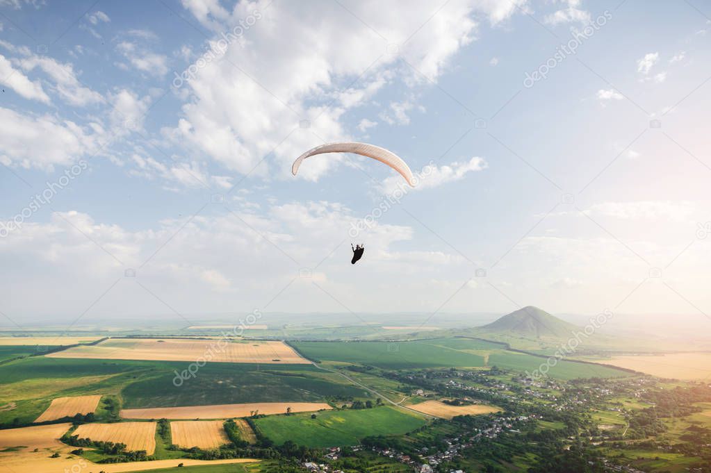
POLYGON ((196 378, 174 386, 180 361, 129 361, 30 357, 0 364, 0 424, 31 423, 53 398, 105 394, 125 408, 195 406, 270 401, 324 401, 369 397, 342 376, 314 366, 210 363, 196 378), (278 371, 277 371, 278 370, 278 371))

